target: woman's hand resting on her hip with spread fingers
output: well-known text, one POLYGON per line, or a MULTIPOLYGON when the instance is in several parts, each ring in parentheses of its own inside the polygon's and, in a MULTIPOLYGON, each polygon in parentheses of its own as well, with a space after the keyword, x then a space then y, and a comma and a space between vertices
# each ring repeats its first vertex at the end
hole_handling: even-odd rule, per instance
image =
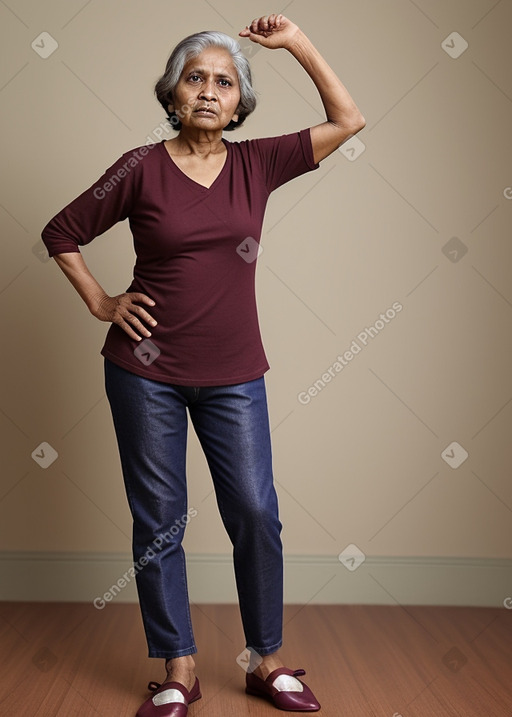
POLYGON ((142 336, 151 336, 151 332, 144 324, 156 326, 157 323, 140 304, 155 306, 153 299, 138 292, 128 292, 118 296, 105 295, 99 299, 95 308, 91 309, 91 313, 100 321, 111 321, 113 324, 117 324, 130 338, 140 341, 142 336), (139 333, 134 329, 137 329, 139 333))

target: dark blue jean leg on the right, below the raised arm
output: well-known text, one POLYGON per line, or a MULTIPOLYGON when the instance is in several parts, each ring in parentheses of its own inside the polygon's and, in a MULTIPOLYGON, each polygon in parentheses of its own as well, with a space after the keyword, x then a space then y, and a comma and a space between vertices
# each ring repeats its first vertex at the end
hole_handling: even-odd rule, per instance
POLYGON ((246 646, 267 655, 282 645, 283 554, 264 378, 201 388, 189 412, 233 544, 246 646))

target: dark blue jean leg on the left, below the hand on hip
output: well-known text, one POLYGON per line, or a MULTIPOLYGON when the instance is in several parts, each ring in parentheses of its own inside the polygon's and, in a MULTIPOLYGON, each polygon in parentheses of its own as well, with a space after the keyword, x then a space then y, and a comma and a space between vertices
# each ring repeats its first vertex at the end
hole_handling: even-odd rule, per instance
POLYGON ((105 360, 105 385, 133 517, 133 559, 149 657, 197 652, 185 553, 186 399, 105 360))

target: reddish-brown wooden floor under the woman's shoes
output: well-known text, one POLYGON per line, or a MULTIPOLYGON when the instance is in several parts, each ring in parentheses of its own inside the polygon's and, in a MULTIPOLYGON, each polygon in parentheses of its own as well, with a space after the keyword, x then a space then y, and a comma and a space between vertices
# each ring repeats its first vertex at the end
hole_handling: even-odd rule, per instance
MULTIPOLYGON (((238 606, 192 605, 189 717, 286 714, 244 692, 238 606)), ((150 659, 137 605, 0 603, 1 717, 134 717, 150 659)), ((288 605, 281 655, 322 717, 511 717, 512 610, 288 605)), ((298 713, 292 713, 298 714, 298 713)))

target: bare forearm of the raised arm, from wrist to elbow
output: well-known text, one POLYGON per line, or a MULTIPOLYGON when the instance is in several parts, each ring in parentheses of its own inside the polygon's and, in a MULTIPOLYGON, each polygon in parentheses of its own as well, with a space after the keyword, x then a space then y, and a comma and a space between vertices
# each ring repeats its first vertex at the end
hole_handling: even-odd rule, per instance
POLYGON ((286 49, 315 83, 327 120, 339 127, 362 129, 365 119, 347 88, 302 30, 298 29, 286 49))

